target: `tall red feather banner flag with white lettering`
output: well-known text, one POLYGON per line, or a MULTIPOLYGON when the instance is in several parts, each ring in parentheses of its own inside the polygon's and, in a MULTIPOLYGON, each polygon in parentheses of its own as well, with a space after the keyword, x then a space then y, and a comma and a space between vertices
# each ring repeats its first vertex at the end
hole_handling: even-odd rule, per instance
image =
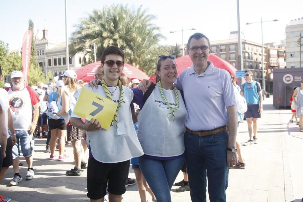
POLYGON ((22 73, 24 76, 24 84, 28 85, 29 60, 31 59, 33 31, 27 30, 22 42, 22 73))

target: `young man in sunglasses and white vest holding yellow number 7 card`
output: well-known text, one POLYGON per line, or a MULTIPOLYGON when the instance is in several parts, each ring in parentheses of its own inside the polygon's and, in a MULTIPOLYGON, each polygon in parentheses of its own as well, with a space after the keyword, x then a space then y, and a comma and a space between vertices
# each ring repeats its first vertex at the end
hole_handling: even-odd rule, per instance
MULTIPOLYGON (((132 122, 131 101, 133 92, 122 86, 119 76, 123 71, 124 53, 115 46, 106 48, 101 56, 104 78, 99 88, 83 87, 118 103, 109 130, 102 129, 97 119, 85 124, 72 114, 71 123, 86 131, 89 141, 87 170, 87 196, 90 201, 103 201, 108 183, 109 201, 121 202, 128 179, 130 159, 143 155, 142 147, 132 122), (106 145, 106 147, 103 147, 106 145)), ((75 93, 78 98, 81 89, 75 93)))

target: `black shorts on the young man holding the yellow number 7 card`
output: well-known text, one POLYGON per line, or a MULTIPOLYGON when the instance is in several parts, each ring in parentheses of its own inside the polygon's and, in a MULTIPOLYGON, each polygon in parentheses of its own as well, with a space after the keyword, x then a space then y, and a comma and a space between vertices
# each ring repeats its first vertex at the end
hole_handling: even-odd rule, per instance
POLYGON ((109 193, 124 194, 129 164, 130 160, 107 164, 88 158, 87 197, 94 200, 103 198, 106 195, 107 181, 109 193))

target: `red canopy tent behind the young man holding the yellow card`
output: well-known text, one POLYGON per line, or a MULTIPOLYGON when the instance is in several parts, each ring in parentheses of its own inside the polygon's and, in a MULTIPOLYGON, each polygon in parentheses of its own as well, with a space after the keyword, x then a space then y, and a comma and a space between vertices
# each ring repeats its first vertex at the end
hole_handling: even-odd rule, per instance
MULTIPOLYGON (((77 69, 77 79, 81 79, 84 82, 92 80, 94 78, 97 67, 100 65, 101 61, 97 61, 77 69)), ((133 80, 134 78, 138 78, 140 81, 142 79, 149 79, 148 75, 146 75, 143 71, 127 63, 124 64, 123 73, 131 80, 133 80)))

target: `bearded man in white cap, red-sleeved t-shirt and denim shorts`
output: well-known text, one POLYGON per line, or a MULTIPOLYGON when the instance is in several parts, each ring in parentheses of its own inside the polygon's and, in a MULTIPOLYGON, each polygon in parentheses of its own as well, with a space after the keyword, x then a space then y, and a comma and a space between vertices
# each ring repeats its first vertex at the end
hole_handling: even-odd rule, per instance
POLYGON ((6 88, 8 91, 9 105, 15 126, 17 142, 13 146, 13 169, 14 177, 10 182, 10 186, 17 185, 22 177, 19 174, 19 145, 21 145, 22 154, 28 165, 26 180, 34 178, 33 156, 34 140, 32 134, 35 131, 39 118, 39 98, 35 91, 25 86, 24 77, 21 71, 13 71, 11 74, 12 87, 6 88))

